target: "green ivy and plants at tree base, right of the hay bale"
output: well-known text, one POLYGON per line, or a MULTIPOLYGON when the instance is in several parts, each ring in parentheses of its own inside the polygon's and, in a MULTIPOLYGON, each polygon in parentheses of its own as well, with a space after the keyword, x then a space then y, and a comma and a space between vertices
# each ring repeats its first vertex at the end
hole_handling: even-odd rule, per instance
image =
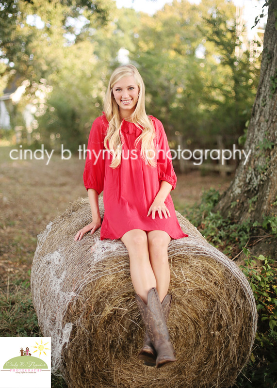
MULTIPOLYGON (((203 192, 200 206, 195 206, 188 214, 190 221, 198 227, 207 240, 234 257, 239 249, 244 252, 245 265, 241 266, 247 277, 256 301, 258 329, 250 361, 238 376, 238 388, 277 388, 277 269, 273 259, 260 255, 251 256, 244 248, 250 236, 255 235, 261 225, 244 222, 236 224, 229 218, 223 219, 219 212, 213 212, 220 194, 211 189, 203 192)), ((257 197, 249 200, 250 208, 257 197)), ((276 198, 277 202, 277 198, 276 198)), ((236 206, 234 201, 232 206, 236 206)), ((277 218, 267 217, 262 226, 270 233, 277 233, 277 218)))

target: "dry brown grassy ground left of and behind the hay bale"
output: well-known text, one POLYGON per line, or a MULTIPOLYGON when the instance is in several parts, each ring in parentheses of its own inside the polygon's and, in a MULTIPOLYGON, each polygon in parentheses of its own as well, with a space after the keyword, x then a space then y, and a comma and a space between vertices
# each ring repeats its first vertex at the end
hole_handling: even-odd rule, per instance
MULTIPOLYGON (((37 235, 78 197, 86 197, 77 156, 61 160, 11 160, 11 147, 0 147, 0 337, 42 336, 33 309, 30 274, 37 235)), ((178 176, 171 193, 175 208, 186 215, 200 201, 202 189, 224 191, 231 177, 178 176)), ((77 232, 77 231, 76 231, 77 232)), ((52 387, 66 387, 53 377, 52 387)))

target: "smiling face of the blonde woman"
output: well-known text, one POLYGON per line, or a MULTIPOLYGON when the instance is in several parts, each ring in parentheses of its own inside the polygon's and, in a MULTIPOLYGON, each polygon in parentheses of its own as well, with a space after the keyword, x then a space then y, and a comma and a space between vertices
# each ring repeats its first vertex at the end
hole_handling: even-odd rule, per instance
POLYGON ((139 87, 133 76, 123 77, 113 87, 121 119, 130 117, 136 108, 139 87))

